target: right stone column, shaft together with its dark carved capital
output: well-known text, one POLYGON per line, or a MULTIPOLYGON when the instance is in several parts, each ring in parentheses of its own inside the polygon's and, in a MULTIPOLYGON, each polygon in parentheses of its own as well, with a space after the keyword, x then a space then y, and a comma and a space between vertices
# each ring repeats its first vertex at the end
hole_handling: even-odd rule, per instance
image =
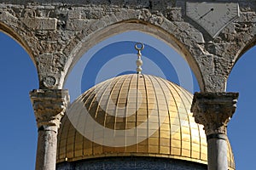
POLYGON ((207 135, 208 170, 227 170, 227 125, 238 93, 195 93, 191 111, 207 135))

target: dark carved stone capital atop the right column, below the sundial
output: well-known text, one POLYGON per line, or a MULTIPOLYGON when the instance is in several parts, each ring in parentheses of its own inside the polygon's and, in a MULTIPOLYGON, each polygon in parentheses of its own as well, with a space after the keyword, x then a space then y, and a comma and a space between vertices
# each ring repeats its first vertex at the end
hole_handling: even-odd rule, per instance
POLYGON ((236 111, 238 93, 195 93, 191 111, 195 122, 204 125, 207 136, 226 134, 227 124, 236 111))

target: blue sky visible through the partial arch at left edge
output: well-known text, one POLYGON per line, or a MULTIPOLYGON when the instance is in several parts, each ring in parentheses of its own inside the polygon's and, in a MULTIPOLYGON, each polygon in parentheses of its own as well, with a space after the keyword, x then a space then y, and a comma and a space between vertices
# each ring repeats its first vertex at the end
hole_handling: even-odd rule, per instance
MULTIPOLYGON (((1 27, 1 64, 0 78, 2 89, 1 95, 1 113, 3 122, 1 122, 0 132, 3 135, 2 144, 6 148, 12 147, 11 140, 19 139, 19 144, 15 148, 2 150, 3 154, 16 155, 20 157, 20 167, 24 169, 32 169, 34 167, 36 147, 37 147, 37 129, 33 116, 31 102, 28 92, 33 88, 38 88, 38 73, 31 57, 27 54, 24 47, 18 43, 14 37, 10 37, 1 27), (19 101, 15 107, 11 100, 19 101), (20 124, 18 127, 9 128, 8 133, 3 133, 4 128, 10 123, 20 124), (18 131, 26 132, 22 134, 18 131), (17 151, 19 150, 19 151, 17 151), (25 154, 26 152, 26 154, 25 154), (25 156, 25 155, 26 156, 25 156), (25 157, 22 157, 25 156, 25 157), (32 160, 32 161, 27 161, 32 160), (32 162, 32 163, 28 163, 32 162)), ((2 164, 2 168, 15 168, 15 165, 9 165, 12 158, 6 158, 2 164)))

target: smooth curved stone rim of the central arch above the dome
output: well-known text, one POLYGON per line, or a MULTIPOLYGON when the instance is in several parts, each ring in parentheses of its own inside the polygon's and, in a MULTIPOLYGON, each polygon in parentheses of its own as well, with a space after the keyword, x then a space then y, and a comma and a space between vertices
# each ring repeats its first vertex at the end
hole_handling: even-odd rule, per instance
MULTIPOLYGON (((168 20, 166 22, 170 21, 168 20)), ((67 71, 67 73, 60 82, 65 82, 69 72, 73 69, 73 66, 87 50, 92 48, 98 42, 102 42, 108 37, 112 37, 125 31, 142 31, 153 37, 159 38, 163 42, 166 42, 166 44, 174 48, 177 53, 187 61, 189 67, 195 73, 195 77, 199 83, 200 88, 204 88, 201 69, 198 63, 195 61, 195 57, 190 54, 186 45, 178 40, 178 38, 175 37, 174 34, 170 33, 170 31, 166 31, 165 29, 161 28, 161 26, 155 26, 143 20, 124 20, 121 22, 116 22, 112 25, 105 26, 102 29, 98 29, 97 31, 91 33, 89 36, 82 38, 70 53, 69 61, 67 62, 68 65, 66 65, 66 68, 64 69, 67 71)))

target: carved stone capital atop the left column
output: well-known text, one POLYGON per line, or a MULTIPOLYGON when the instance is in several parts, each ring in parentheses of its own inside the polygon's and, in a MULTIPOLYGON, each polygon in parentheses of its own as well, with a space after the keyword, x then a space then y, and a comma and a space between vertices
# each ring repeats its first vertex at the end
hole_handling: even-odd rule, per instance
POLYGON ((63 89, 35 89, 30 92, 30 98, 38 128, 59 128, 61 117, 64 115, 69 102, 68 91, 63 89))

